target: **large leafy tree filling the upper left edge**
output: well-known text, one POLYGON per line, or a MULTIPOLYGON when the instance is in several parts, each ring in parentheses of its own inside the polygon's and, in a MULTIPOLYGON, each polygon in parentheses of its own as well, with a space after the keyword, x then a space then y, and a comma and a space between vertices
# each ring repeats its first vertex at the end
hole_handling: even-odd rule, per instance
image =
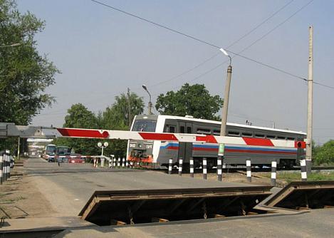
MULTIPOLYGON (((46 56, 38 53, 34 40, 44 26, 30 12, 21 14, 14 0, 0 0, 1 122, 28 125, 34 115, 53 103, 45 90, 55 83, 59 71, 46 56), (14 43, 21 45, 4 47, 14 43)), ((0 150, 16 150, 12 141, 1 140, 0 150)))

